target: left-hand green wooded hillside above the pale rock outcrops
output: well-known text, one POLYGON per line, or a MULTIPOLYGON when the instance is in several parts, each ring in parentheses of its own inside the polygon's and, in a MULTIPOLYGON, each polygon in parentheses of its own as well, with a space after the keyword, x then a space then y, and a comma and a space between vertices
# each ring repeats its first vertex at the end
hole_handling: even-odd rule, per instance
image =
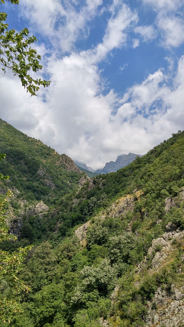
POLYGON ((59 153, 40 140, 28 137, 3 120, 0 139, 0 153, 7 155, 6 161, 1 162, 1 172, 10 176, 5 185, 18 189, 19 198, 51 204, 78 185, 83 173, 68 172, 64 165, 57 164, 59 153))

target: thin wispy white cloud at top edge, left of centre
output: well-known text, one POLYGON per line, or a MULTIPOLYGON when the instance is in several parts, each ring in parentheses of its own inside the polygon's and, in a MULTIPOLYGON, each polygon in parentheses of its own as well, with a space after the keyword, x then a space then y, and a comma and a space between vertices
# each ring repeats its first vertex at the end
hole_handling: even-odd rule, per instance
POLYGON ((102 0, 89 1, 77 10, 73 3, 60 0, 20 0, 22 15, 37 25, 40 33, 48 37, 54 46, 60 45, 63 52, 74 49, 77 38, 87 37, 87 22, 95 17, 102 0))

